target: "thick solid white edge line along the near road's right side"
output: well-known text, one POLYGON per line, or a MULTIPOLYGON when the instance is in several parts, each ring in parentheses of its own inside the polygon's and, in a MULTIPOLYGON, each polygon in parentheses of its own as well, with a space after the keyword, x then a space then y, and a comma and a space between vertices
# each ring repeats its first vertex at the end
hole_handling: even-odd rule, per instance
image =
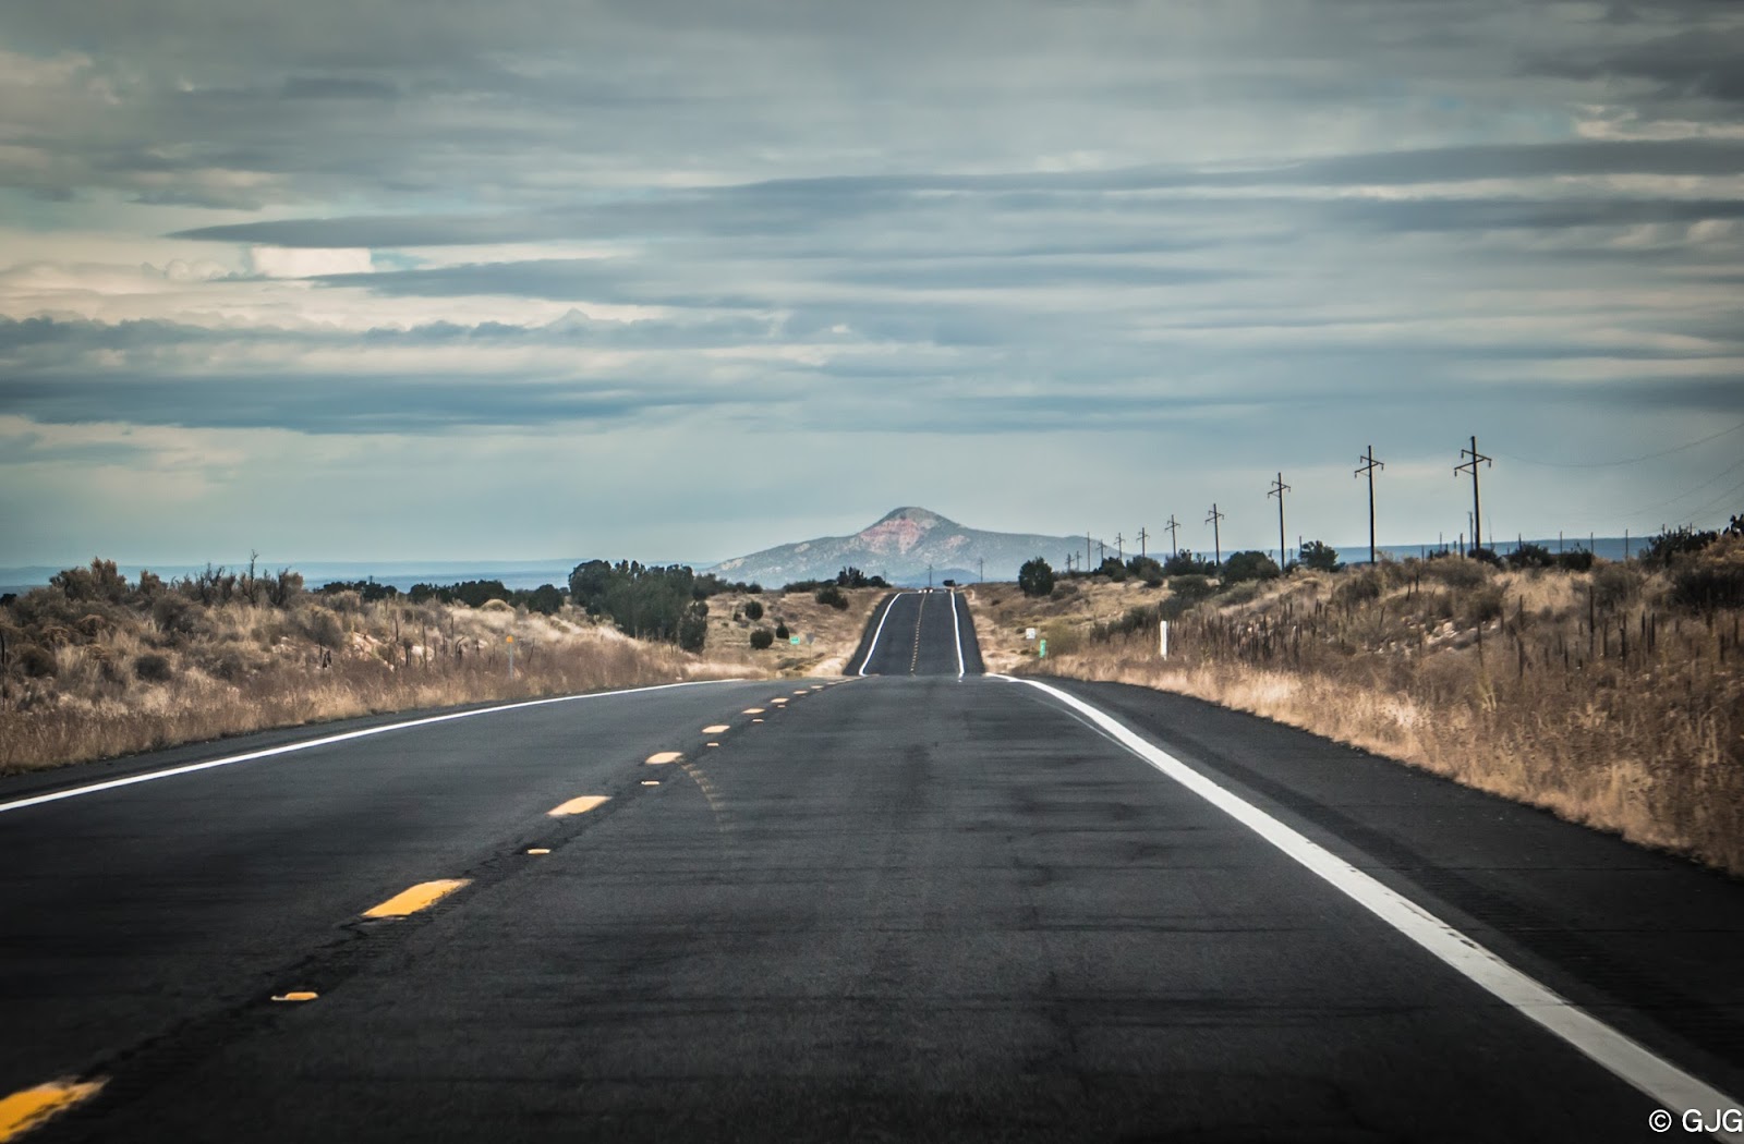
MULTIPOLYGON (((1611 1029, 1603 1020, 1592 1017, 1550 987, 1533 977, 1516 970, 1507 961, 1465 936, 1448 923, 1441 921, 1404 895, 1388 889, 1371 875, 1332 855, 1317 842, 1308 841, 1277 818, 1271 818, 1240 795, 1235 795, 1174 755, 1148 743, 1111 715, 1090 706, 1083 699, 1071 696, 1059 687, 1050 687, 1031 678, 994 675, 1012 684, 1029 684, 1060 703, 1081 712, 1116 743, 1151 764, 1168 778, 1175 780, 1198 797, 1230 814, 1238 823, 1277 846, 1298 863, 1331 882, 1338 891, 1357 902, 1360 907, 1385 921, 1388 926, 1416 942, 1420 947, 1458 970, 1468 980, 1488 991, 1491 996, 1519 1010, 1528 1020, 1542 1025, 1561 1038, 1589 1059, 1608 1069, 1617 1078, 1639 1088, 1676 1114, 1686 1111, 1713 1113, 1714 1109, 1741 1107, 1730 1097, 1711 1085, 1690 1076, 1639 1041, 1611 1029)), ((1714 1132, 1716 1141, 1744 1144, 1744 1134, 1714 1132)))

